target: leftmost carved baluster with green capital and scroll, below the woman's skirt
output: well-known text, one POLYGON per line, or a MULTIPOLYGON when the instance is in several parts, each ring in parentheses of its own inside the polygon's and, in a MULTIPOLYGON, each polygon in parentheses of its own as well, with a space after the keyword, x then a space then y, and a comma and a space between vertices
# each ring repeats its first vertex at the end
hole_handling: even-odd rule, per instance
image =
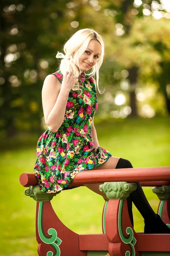
MULTIPOLYGON (((58 193, 57 193, 58 194, 58 193)), ((40 256, 87 256, 79 250, 79 235, 68 229, 57 217, 51 206, 56 193, 41 192, 39 186, 30 186, 25 190, 37 201, 36 238, 40 256)))

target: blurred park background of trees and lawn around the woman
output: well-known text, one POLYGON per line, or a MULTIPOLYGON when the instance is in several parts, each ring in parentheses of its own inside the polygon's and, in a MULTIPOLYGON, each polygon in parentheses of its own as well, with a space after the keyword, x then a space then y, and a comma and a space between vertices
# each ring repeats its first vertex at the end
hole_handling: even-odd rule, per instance
MULTIPOLYGON (((170 0, 4 0, 0 38, 0 256, 36 256, 36 202, 24 195, 46 126, 41 90, 79 29, 105 40, 94 124, 99 145, 133 167, 170 166, 170 0)), ((158 199, 144 188, 156 211, 158 199)), ((104 200, 85 187, 51 201, 71 230, 102 233, 104 200)), ((134 209, 135 230, 144 222, 134 209)), ((50 217, 50 216, 49 216, 50 217)))

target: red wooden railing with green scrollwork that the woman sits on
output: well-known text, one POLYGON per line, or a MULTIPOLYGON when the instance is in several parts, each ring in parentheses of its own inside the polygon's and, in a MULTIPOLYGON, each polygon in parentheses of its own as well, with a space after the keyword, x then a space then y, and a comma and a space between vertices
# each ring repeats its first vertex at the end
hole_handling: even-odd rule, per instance
MULTIPOLYGON (((140 181, 142 186, 169 186, 170 167, 82 171, 74 177, 74 180, 68 187, 113 181, 140 181)), ((38 184, 38 180, 35 177, 35 173, 23 173, 20 175, 20 183, 25 187, 36 186, 38 184)), ((158 213, 159 212, 161 212, 163 221, 166 224, 170 224, 169 199, 167 199, 167 201, 160 201, 158 207, 158 213)), ((161 235, 135 232, 128 216, 126 199, 109 200, 105 203, 102 215, 102 224, 105 224, 105 229, 103 228, 105 231, 103 231, 103 234, 79 235, 68 229, 59 220, 50 202, 37 202, 36 237, 38 242, 38 255, 102 256, 109 252, 110 256, 122 256, 125 255, 127 251, 130 251, 130 254, 128 255, 132 256, 142 256, 145 255, 142 254, 144 252, 147 252, 147 255, 149 255, 150 252, 152 253, 150 254, 152 256, 154 255, 154 252, 158 256, 170 255, 170 234, 161 235), (119 218, 120 209, 122 209, 121 218, 119 218), (120 219, 122 220, 121 228, 125 241, 122 240, 120 235, 120 219), (130 236, 130 233, 129 235, 127 233, 127 227, 131 230, 131 235, 133 237, 129 242, 126 242, 130 236), (56 241, 48 242, 53 237, 53 235, 49 236, 52 234, 50 232, 56 232, 56 241), (57 249, 55 249, 55 247, 57 249), (97 251, 98 254, 96 254, 97 251), (102 252, 105 254, 102 254, 102 252), (161 252, 161 254, 159 254, 159 252, 161 252)))

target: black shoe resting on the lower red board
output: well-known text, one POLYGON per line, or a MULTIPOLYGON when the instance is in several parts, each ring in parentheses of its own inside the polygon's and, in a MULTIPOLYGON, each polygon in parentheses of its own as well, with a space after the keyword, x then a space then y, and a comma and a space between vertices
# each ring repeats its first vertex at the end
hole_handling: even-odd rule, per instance
POLYGON ((161 217, 144 220, 144 234, 170 234, 170 228, 161 220, 161 217))

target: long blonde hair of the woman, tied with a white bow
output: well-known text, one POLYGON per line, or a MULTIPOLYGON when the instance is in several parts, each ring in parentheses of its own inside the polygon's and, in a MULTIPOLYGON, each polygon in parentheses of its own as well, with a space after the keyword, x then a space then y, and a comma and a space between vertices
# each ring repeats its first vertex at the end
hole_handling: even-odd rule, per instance
MULTIPOLYGON (((63 51, 65 52, 64 58, 61 57, 61 53, 59 52, 57 53, 56 58, 63 58, 59 65, 59 69, 61 70, 61 73, 63 75, 65 75, 67 71, 71 71, 74 73, 74 76, 78 77, 81 72, 80 68, 77 68, 76 63, 79 67, 78 60, 87 49, 88 43, 91 39, 96 39, 101 44, 102 51, 99 60, 92 67, 91 72, 88 74, 85 73, 85 75, 89 77, 93 76, 94 78, 96 78, 95 86, 97 86, 99 90, 99 68, 101 67, 103 62, 105 46, 104 39, 94 29, 80 29, 76 33, 74 33, 74 35, 72 35, 71 38, 69 38, 63 46, 63 51), (72 56, 73 52, 75 52, 74 58, 72 56)), ((74 90, 81 90, 80 85, 75 84, 74 90)), ((99 93, 101 93, 100 90, 99 93)))

